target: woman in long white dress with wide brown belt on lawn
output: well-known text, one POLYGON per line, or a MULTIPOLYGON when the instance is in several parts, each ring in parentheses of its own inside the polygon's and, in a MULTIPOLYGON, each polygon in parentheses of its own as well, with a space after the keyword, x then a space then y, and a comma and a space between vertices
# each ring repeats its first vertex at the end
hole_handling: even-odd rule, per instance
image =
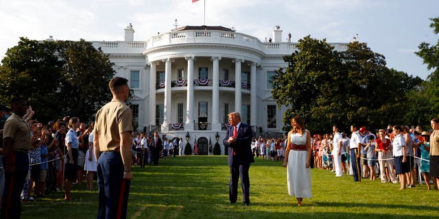
POLYGON ((287 187, 290 196, 296 196, 297 205, 303 198, 311 198, 311 133, 305 129, 300 116, 291 119, 292 131, 288 133, 283 166, 287 167, 287 187))

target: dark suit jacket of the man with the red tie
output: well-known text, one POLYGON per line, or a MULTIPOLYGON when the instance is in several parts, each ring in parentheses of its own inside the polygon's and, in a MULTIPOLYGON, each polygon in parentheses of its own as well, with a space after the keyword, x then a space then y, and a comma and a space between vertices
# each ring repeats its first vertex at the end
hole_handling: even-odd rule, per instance
POLYGON ((227 140, 233 136, 233 129, 233 126, 227 129, 226 138, 223 140, 223 144, 228 146, 228 166, 253 163, 254 158, 251 146, 253 138, 252 127, 241 123, 237 131, 236 142, 228 144, 227 140), (233 155, 233 149, 235 149, 236 155, 233 155))

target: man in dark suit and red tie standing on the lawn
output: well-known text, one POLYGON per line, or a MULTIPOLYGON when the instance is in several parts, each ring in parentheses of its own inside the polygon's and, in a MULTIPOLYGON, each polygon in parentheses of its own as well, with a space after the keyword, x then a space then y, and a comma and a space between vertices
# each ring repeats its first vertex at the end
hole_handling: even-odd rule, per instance
POLYGON ((230 185, 228 198, 230 204, 236 203, 238 197, 238 177, 241 178, 242 201, 250 205, 250 179, 248 169, 254 162, 251 144, 253 131, 249 125, 241 123, 238 112, 228 114, 230 127, 227 129, 224 146, 228 146, 228 166, 230 166, 230 185))

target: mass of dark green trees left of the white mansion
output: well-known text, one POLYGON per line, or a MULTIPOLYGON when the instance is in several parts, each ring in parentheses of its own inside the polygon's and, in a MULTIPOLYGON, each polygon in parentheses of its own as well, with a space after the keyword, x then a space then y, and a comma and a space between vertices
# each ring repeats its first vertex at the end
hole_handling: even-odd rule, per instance
POLYGON ((110 100, 108 79, 114 74, 108 55, 85 40, 21 38, 2 60, 0 101, 23 96, 43 122, 65 115, 87 121, 110 100))

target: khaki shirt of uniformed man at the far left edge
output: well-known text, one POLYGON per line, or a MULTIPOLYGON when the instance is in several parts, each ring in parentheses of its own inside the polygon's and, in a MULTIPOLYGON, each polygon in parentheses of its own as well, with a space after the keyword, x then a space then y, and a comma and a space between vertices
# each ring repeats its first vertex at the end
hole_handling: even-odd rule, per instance
POLYGON ((30 148, 30 128, 26 121, 12 114, 5 122, 3 139, 12 138, 12 151, 27 153, 30 148))

